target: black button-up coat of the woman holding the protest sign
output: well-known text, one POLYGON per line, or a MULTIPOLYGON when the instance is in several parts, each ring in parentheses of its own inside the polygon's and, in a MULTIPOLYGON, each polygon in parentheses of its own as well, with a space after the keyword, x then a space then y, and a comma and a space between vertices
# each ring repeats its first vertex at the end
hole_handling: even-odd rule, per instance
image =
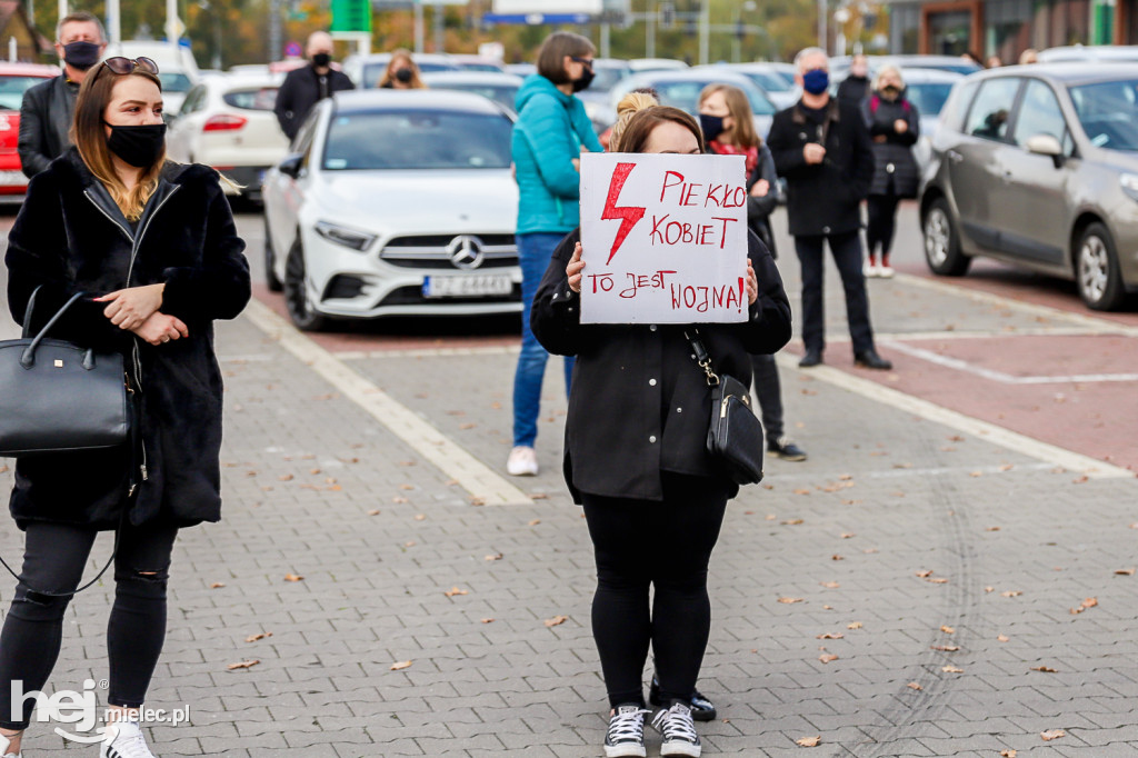
MULTIPOLYGON (((566 481, 580 493, 662 500, 661 472, 724 480, 704 447, 711 390, 692 359, 684 327, 582 324, 580 296, 569 289, 566 265, 580 230, 553 252, 530 311, 530 328, 551 353, 576 355, 566 419, 566 481)), ((749 320, 700 324, 715 370, 751 380, 750 353, 772 354, 790 340, 790 302, 770 254, 748 234, 748 255, 759 281, 749 320)))

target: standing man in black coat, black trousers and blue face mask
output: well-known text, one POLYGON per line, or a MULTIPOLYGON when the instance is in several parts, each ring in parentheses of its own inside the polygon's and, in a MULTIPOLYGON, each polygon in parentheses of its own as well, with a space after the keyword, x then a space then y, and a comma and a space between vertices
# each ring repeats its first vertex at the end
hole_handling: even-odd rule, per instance
POLYGON ((873 180, 873 143, 858 109, 830 97, 830 60, 807 48, 794 58, 802 99, 775 114, 767 146, 786 178, 790 233, 802 266, 802 341, 808 368, 825 349, 822 282, 823 244, 830 242, 846 289, 846 315, 853 360, 867 369, 892 369, 877 355, 869 326, 869 300, 861 272, 861 200, 873 180))

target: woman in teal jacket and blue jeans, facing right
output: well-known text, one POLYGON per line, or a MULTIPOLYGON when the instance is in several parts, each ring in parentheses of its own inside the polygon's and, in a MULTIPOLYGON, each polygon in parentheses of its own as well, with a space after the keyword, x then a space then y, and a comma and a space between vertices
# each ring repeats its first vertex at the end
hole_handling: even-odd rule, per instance
MULTIPOLYGON (((534 442, 541 411, 542 379, 550 354, 529 329, 534 294, 553 249, 580 223, 580 153, 604 148, 574 97, 593 81, 593 43, 579 34, 554 32, 542 44, 537 73, 526 79, 514 109, 513 165, 518 180, 518 259, 521 264, 521 355, 513 378, 512 476, 537 473, 534 442)), ((566 359, 568 393, 572 359, 566 359)))

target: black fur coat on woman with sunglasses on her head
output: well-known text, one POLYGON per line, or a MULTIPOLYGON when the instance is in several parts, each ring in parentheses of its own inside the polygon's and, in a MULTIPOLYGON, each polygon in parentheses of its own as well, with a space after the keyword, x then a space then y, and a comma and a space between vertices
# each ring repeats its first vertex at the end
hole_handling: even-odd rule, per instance
MULTIPOLYGON (((184 321, 188 338, 150 346, 112 324, 105 304, 89 298, 51 333, 118 351, 132 368, 137 356, 147 478, 130 505, 130 521, 217 521, 222 380, 213 321, 236 318, 249 300, 245 242, 217 172, 201 165, 167 164, 138 228, 135 234, 72 148, 28 184, 8 236, 8 306, 23 322, 28 297, 41 287, 35 331, 73 293, 98 297, 127 285, 165 282, 160 311, 184 321)), ((127 502, 131 458, 129 450, 22 458, 11 514, 20 528, 30 520, 114 528, 127 502)))

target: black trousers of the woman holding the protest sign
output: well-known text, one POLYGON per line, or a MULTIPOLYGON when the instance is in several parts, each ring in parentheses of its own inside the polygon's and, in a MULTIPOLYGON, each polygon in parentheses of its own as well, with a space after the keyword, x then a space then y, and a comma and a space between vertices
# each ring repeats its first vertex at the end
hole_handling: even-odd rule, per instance
POLYGON ((665 702, 690 702, 711 629, 708 561, 727 495, 714 479, 669 473, 663 493, 662 502, 583 494, 596 555, 593 637, 613 708, 644 705, 649 643, 665 702))

